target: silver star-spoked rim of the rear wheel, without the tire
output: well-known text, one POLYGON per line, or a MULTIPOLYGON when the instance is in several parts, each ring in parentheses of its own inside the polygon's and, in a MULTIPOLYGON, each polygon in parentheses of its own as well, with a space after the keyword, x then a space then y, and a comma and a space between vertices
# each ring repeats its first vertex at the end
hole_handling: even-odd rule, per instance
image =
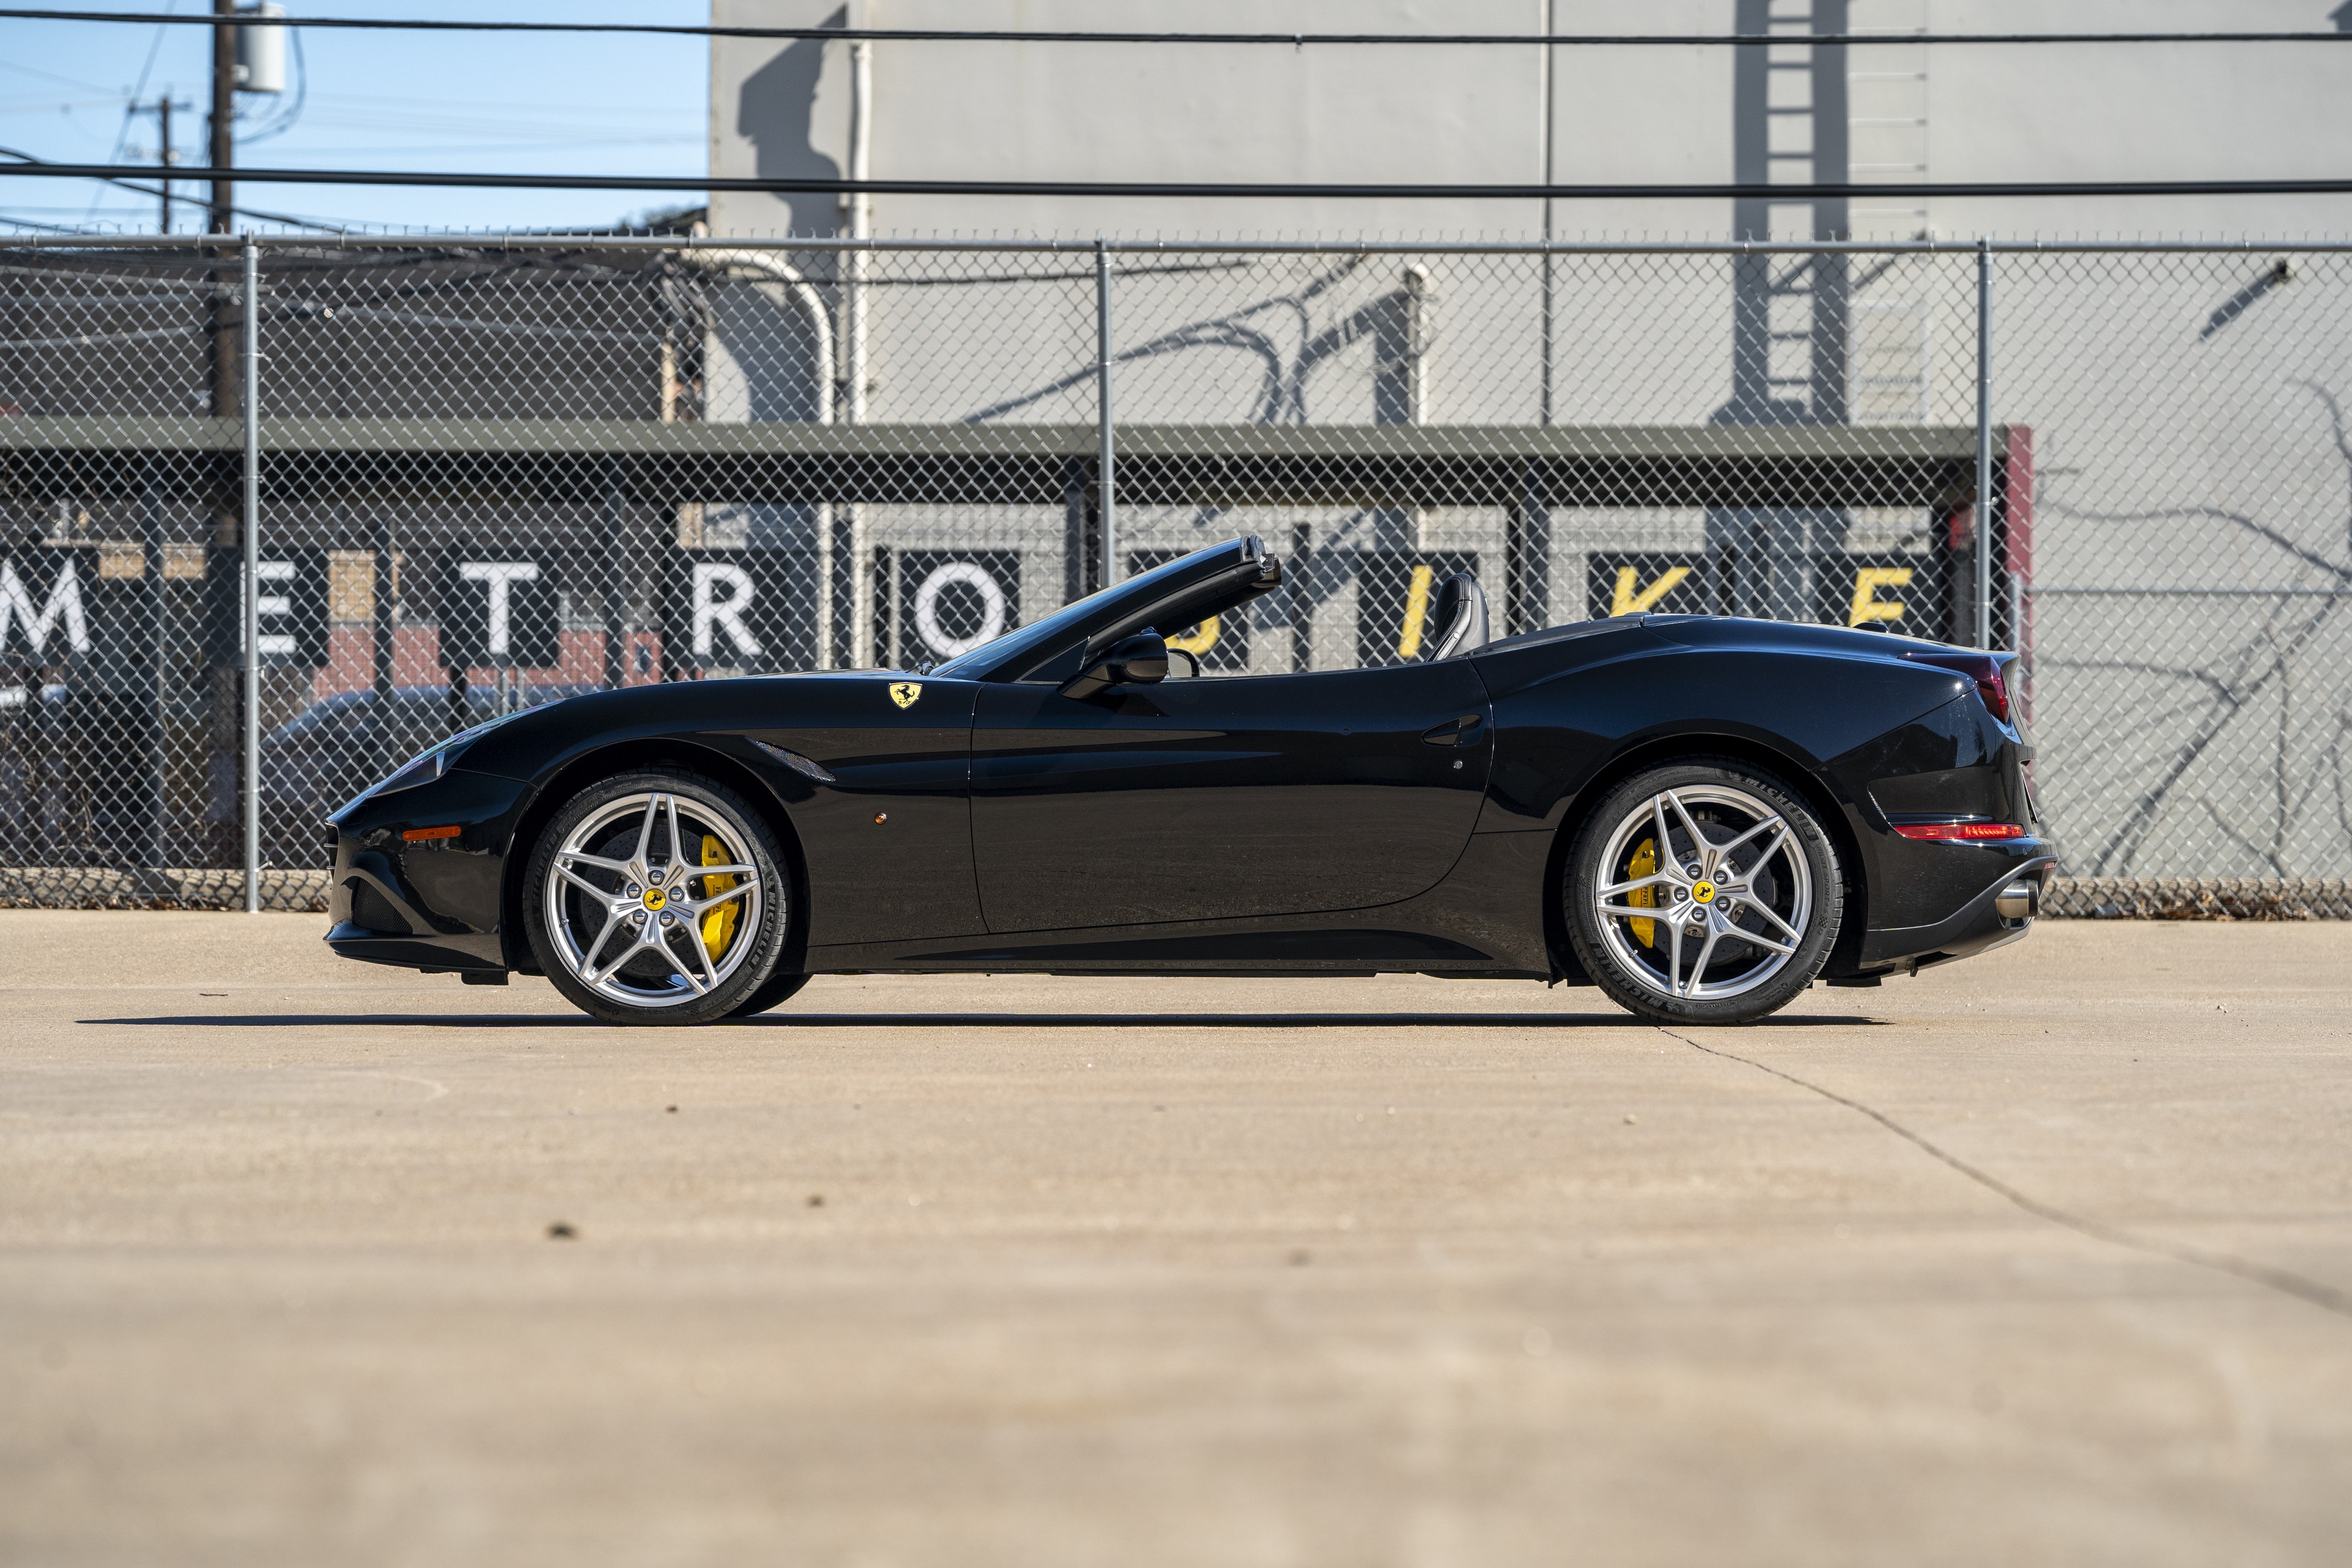
POLYGON ((1769 985, 1813 917, 1813 875, 1790 823, 1729 785, 1635 804, 1599 865, 1592 912, 1609 954, 1642 987, 1682 1001, 1769 985))

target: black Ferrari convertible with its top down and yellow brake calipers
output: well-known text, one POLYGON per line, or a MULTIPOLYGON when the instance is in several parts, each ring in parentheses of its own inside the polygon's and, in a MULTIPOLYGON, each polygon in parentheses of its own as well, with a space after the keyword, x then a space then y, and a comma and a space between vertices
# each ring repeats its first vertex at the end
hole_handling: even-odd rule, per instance
POLYGON ((1748 1023, 2032 924, 2006 654, 1712 616, 1486 642, 1468 576, 1397 668, 1204 677, 1162 637, 1279 581, 1237 538, 936 670, 477 724, 334 813, 327 940, 614 1023, 875 971, 1421 971, 1748 1023))

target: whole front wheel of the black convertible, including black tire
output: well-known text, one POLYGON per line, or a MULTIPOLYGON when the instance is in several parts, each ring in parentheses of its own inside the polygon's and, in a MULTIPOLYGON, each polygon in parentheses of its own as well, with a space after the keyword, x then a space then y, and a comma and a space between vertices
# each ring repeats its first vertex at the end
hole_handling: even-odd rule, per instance
POLYGON ((619 773, 541 830, 522 924, 548 980, 583 1013, 713 1023, 750 1001, 783 954, 793 914, 783 867, 767 818, 720 780, 684 769, 619 773))

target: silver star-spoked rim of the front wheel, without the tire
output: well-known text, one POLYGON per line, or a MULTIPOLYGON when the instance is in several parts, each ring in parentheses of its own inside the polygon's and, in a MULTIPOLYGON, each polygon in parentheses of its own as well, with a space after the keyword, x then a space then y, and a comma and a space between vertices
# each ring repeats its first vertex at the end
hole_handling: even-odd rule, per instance
POLYGON ((666 790, 604 802, 546 863, 553 957, 628 1009, 708 997, 760 945, 767 879, 734 813, 666 790))

